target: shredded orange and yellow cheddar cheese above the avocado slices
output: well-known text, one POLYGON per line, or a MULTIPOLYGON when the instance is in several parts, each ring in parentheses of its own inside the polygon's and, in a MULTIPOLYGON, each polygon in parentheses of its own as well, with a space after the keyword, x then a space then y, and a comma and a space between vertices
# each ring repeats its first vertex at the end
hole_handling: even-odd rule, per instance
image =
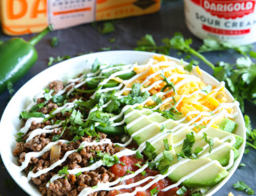
MULTIPOLYGON (((160 63, 163 61, 172 61, 172 60, 168 59, 165 56, 154 57, 154 64, 160 63)), ((161 70, 169 66, 170 65, 164 65, 164 64, 161 64, 159 66, 148 66, 148 67, 137 66, 134 68, 135 73, 137 74, 144 73, 144 74, 142 74, 139 78, 137 78, 133 82, 126 84, 125 88, 131 88, 131 86, 133 86, 134 83, 141 84, 144 80, 146 80, 147 76, 150 76, 151 74, 154 74, 158 71, 160 73, 161 70)), ((196 73, 202 75, 202 71, 198 66, 196 66, 196 73)), ((166 78, 168 78, 173 74, 190 74, 190 73, 188 73, 184 69, 181 69, 181 67, 177 66, 174 69, 165 71, 164 73, 161 72, 161 74, 163 74, 166 78)), ((184 79, 185 79, 184 77, 182 78, 177 76, 177 77, 171 78, 170 81, 173 82, 173 84, 175 84, 176 86, 179 82, 181 82, 184 79)), ((150 79, 147 79, 146 82, 144 82, 142 88, 147 88, 148 86, 154 84, 154 82, 158 82, 158 81, 162 81, 162 82, 160 84, 155 85, 151 90, 149 90, 149 92, 152 95, 159 93, 163 89, 163 87, 167 84, 163 80, 163 77, 160 74, 157 74, 156 76, 150 79)), ((173 97, 173 99, 176 102, 181 99, 181 101, 179 101, 179 105, 177 106, 175 105, 175 106, 177 110, 182 113, 183 116, 186 116, 186 114, 188 114, 188 112, 191 112, 191 111, 210 112, 211 110, 215 110, 215 108, 217 108, 217 106, 219 106, 221 103, 225 103, 227 101, 226 95, 224 93, 224 87, 217 88, 213 86, 213 89, 205 95, 205 93, 202 93, 201 91, 203 90, 203 88, 205 88, 205 86, 207 85, 203 82, 203 80, 200 80, 199 82, 194 80, 192 81, 188 80, 188 82, 185 82, 184 84, 179 86, 179 88, 176 89, 177 93, 175 93, 175 91, 170 91, 169 93, 166 93, 165 95, 163 95, 161 99, 165 100, 168 97, 173 97), (197 91, 198 93, 194 93, 195 91, 197 91), (191 95, 192 93, 194 94, 191 95), (182 97, 182 95, 188 95, 188 96, 182 97)), ((170 88, 165 89, 163 92, 166 92, 167 90, 170 90, 170 88)), ((123 93, 123 95, 127 95, 127 94, 129 94, 129 91, 125 91, 123 93)), ((154 105, 154 101, 148 101, 148 103, 146 103, 146 106, 150 106, 150 105, 154 105)), ((171 100, 161 105, 160 110, 167 110, 168 108, 171 108, 173 105, 174 105, 174 101, 171 100)), ((231 114, 233 112, 233 109, 228 108, 227 111, 231 114)), ((196 115, 189 115, 187 116, 187 120, 191 120, 195 116, 196 115)), ((196 122, 200 121, 203 117, 205 117, 205 115, 202 115, 196 122)), ((207 125, 208 122, 209 120, 205 120, 202 123, 202 125, 207 125)), ((198 131, 198 128, 195 127, 194 129, 195 131, 198 131)))

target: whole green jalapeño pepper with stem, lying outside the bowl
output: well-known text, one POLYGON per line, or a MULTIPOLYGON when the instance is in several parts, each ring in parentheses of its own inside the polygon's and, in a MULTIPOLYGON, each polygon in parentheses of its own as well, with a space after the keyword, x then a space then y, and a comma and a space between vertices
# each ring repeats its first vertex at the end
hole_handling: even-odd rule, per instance
POLYGON ((52 29, 53 25, 49 25, 28 42, 14 37, 0 44, 0 93, 7 88, 9 82, 17 82, 30 70, 38 57, 35 44, 52 29))

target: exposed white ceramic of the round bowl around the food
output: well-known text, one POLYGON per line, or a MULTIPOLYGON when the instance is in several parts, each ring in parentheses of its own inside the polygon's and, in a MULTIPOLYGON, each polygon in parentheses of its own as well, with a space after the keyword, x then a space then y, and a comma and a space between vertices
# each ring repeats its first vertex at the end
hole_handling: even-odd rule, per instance
MULTIPOLYGON (((138 51, 110 51, 87 54, 68 59, 67 61, 54 65, 53 67, 49 67, 24 84, 24 86, 22 86, 22 88, 20 88, 20 90, 18 90, 12 97, 11 101, 5 108, 0 122, 0 134, 2 135, 0 138, 1 157, 7 171, 9 171, 14 181, 28 194, 34 196, 41 195, 32 182, 28 182, 26 174, 24 174, 24 172, 20 172, 16 161, 17 158, 12 155, 12 150, 15 148, 16 133, 19 131, 21 125, 19 120, 20 112, 26 108, 31 99, 33 99, 39 91, 47 87, 49 82, 53 80, 65 81, 68 80, 68 78, 72 78, 76 74, 81 73, 81 71, 89 71, 96 57, 101 63, 119 64, 137 62, 140 64, 145 63, 147 59, 155 55, 159 54, 138 51)), ((181 62, 179 59, 175 59, 173 57, 169 58, 177 61, 178 63, 181 62)), ((213 78, 213 76, 205 73, 204 71, 202 71, 202 73, 202 75, 198 75, 197 73, 194 74, 200 76, 207 84, 211 84, 213 86, 219 85, 219 81, 213 78)), ((227 90, 226 94, 229 101, 234 100, 234 97, 232 97, 227 90)), ((238 123, 236 134, 240 135, 245 141, 244 118, 240 108, 236 107, 235 110, 238 112, 238 116, 235 119, 236 123, 238 123)), ((230 169, 230 174, 224 178, 222 182, 209 189, 207 196, 213 195, 213 193, 218 191, 228 181, 232 174, 234 174, 234 171, 236 171, 242 159, 242 155, 244 154, 244 148, 245 142, 239 149, 240 155, 238 159, 236 159, 234 166, 230 169)))

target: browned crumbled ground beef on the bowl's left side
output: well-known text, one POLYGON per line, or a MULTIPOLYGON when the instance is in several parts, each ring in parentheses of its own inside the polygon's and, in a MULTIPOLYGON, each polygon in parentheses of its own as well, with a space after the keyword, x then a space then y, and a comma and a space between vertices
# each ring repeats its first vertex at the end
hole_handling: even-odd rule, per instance
MULTIPOLYGON (((75 82, 75 85, 79 82, 75 82)), ((74 85, 72 85, 73 87, 74 85)), ((70 90, 72 87, 67 89, 66 91, 70 90)), ((54 80, 49 85, 49 88, 51 90, 54 90, 54 94, 56 94, 58 91, 63 90, 64 86, 63 83, 54 80)), ((83 84, 81 87, 79 87, 81 90, 87 90, 87 86, 83 84)), ((81 99, 83 101, 88 100, 89 97, 91 97, 91 94, 89 93, 82 93, 82 92, 76 92, 68 97, 68 102, 74 101, 75 99, 81 99)), ((37 99, 38 103, 45 103, 44 98, 37 99)), ((57 108, 58 106, 56 103, 53 103, 53 101, 49 101, 48 103, 45 103, 45 105, 42 108, 39 108, 37 112, 42 112, 43 114, 49 114, 54 108, 57 108)), ((85 110, 83 112, 89 112, 89 110, 85 110)), ((66 120, 67 117, 70 116, 70 112, 59 112, 56 114, 51 120, 47 120, 42 123, 36 123, 35 121, 32 122, 30 129, 28 130, 28 133, 26 133, 22 140, 24 142, 17 142, 16 148, 13 150, 13 155, 18 158, 18 164, 22 165, 22 162, 25 160, 25 156, 28 152, 39 152, 47 146, 50 142, 53 142, 54 135, 60 135, 62 133, 63 128, 60 127, 60 129, 54 129, 53 133, 43 133, 41 135, 37 135, 33 137, 32 140, 29 140, 26 142, 30 134, 35 129, 42 129, 43 127, 47 125, 53 125, 57 120, 66 120)), ((25 125, 26 120, 23 120, 23 125, 25 125)), ((70 124, 68 124, 70 126, 70 124)), ((79 148, 81 142, 87 141, 87 142, 93 142, 95 139, 106 139, 107 135, 104 133, 97 133, 97 137, 91 137, 88 135, 85 135, 85 137, 81 137, 80 139, 76 140, 75 142, 70 142, 68 144, 64 144, 63 142, 59 142, 58 145, 60 146, 60 155, 59 157, 53 157, 54 161, 53 163, 58 161, 59 159, 62 159, 66 152, 70 150, 76 150, 79 148)), ((66 129, 60 139, 64 140, 72 140, 74 138, 74 135, 70 133, 68 129, 66 129)), ((42 195, 47 196, 56 196, 56 195, 78 195, 83 188, 96 186, 99 182, 106 183, 111 182, 114 180, 114 174, 110 171, 108 171, 105 167, 99 167, 98 169, 95 169, 93 171, 87 171, 83 172, 78 176, 75 176, 74 174, 68 174, 66 175, 66 178, 59 178, 58 180, 55 180, 52 182, 49 186, 49 188, 46 187, 47 182, 56 174, 58 174, 58 171, 60 169, 63 169, 63 167, 68 167, 68 169, 75 169, 75 168, 81 168, 81 167, 87 167, 91 161, 91 158, 96 158, 97 153, 96 152, 103 152, 108 153, 110 155, 113 155, 116 153, 116 150, 113 146, 113 144, 102 144, 98 146, 86 146, 79 152, 74 152, 70 155, 68 155, 66 161, 64 161, 62 164, 55 167, 53 170, 41 174, 37 178, 32 178, 33 184, 35 184, 42 195)), ((53 160, 52 159, 52 160, 53 160)), ((43 154, 41 157, 32 157, 30 159, 30 162, 28 164, 28 167, 24 169, 24 172, 28 174, 30 171, 32 172, 38 172, 42 169, 46 169, 47 167, 50 167, 51 164, 51 150, 43 154)), ((106 195, 106 191, 98 191, 96 193, 92 193, 90 195, 106 195)))

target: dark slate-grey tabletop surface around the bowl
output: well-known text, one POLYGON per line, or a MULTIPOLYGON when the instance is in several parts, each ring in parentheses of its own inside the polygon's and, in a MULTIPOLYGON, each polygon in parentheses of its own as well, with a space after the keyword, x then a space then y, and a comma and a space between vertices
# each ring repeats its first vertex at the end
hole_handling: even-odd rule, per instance
MULTIPOLYGON (((98 23, 97 25, 100 26, 102 23, 98 23)), ((162 8, 158 13, 117 20, 114 22, 114 25, 116 27, 116 31, 108 35, 100 34, 96 27, 93 27, 91 24, 79 25, 70 29, 63 29, 49 33, 43 41, 39 42, 39 44, 35 46, 39 54, 37 63, 35 63, 32 69, 30 69, 30 71, 21 80, 19 80, 18 83, 14 84, 14 90, 17 91, 22 85, 30 80, 30 78, 44 69, 47 69, 49 56, 75 56, 79 53, 97 52, 100 48, 109 46, 111 46, 112 50, 133 50, 136 46, 136 42, 147 33, 153 35, 158 44, 160 44, 161 39, 165 37, 172 37, 177 31, 180 31, 186 38, 191 37, 194 41, 194 48, 198 48, 198 46, 202 44, 202 41, 194 37, 186 28, 184 23, 183 2, 179 0, 163 2, 162 8), (54 36, 58 37, 58 41, 60 43, 55 48, 52 48, 51 38, 54 36), (109 39, 111 38, 116 38, 116 42, 110 43, 109 39)), ((32 36, 33 35, 25 35, 23 38, 29 40, 32 36)), ((5 41, 7 39, 10 39, 10 37, 3 35, 3 32, 0 30, 0 40, 5 41)), ((254 51, 256 51, 256 44, 253 46, 254 51)), ((220 60, 234 63, 236 58, 239 56, 232 51, 210 52, 205 53, 204 55, 213 63, 220 60)), ((171 51, 170 56, 181 57, 177 55, 176 51, 171 51)), ((212 73, 211 69, 202 62, 200 63, 200 67, 203 70, 212 73)), ((3 110, 9 102, 10 97, 11 95, 8 91, 5 91, 0 95, 0 117, 3 114, 3 110)), ((256 127, 255 110, 255 105, 245 103, 245 111, 246 114, 251 117, 253 127, 256 127)), ((249 154, 244 155, 242 163, 245 163, 246 167, 238 169, 232 178, 230 178, 223 188, 215 193, 215 195, 228 195, 230 191, 232 191, 235 196, 246 195, 246 193, 236 191, 232 188, 232 184, 236 183, 238 180, 244 180, 248 186, 256 191, 256 150, 251 149, 249 154)), ((0 195, 27 195, 14 182, 14 188, 11 190, 7 188, 5 184, 11 180, 11 176, 9 176, 9 173, 6 171, 3 163, 0 163, 0 166, 0 195)))

